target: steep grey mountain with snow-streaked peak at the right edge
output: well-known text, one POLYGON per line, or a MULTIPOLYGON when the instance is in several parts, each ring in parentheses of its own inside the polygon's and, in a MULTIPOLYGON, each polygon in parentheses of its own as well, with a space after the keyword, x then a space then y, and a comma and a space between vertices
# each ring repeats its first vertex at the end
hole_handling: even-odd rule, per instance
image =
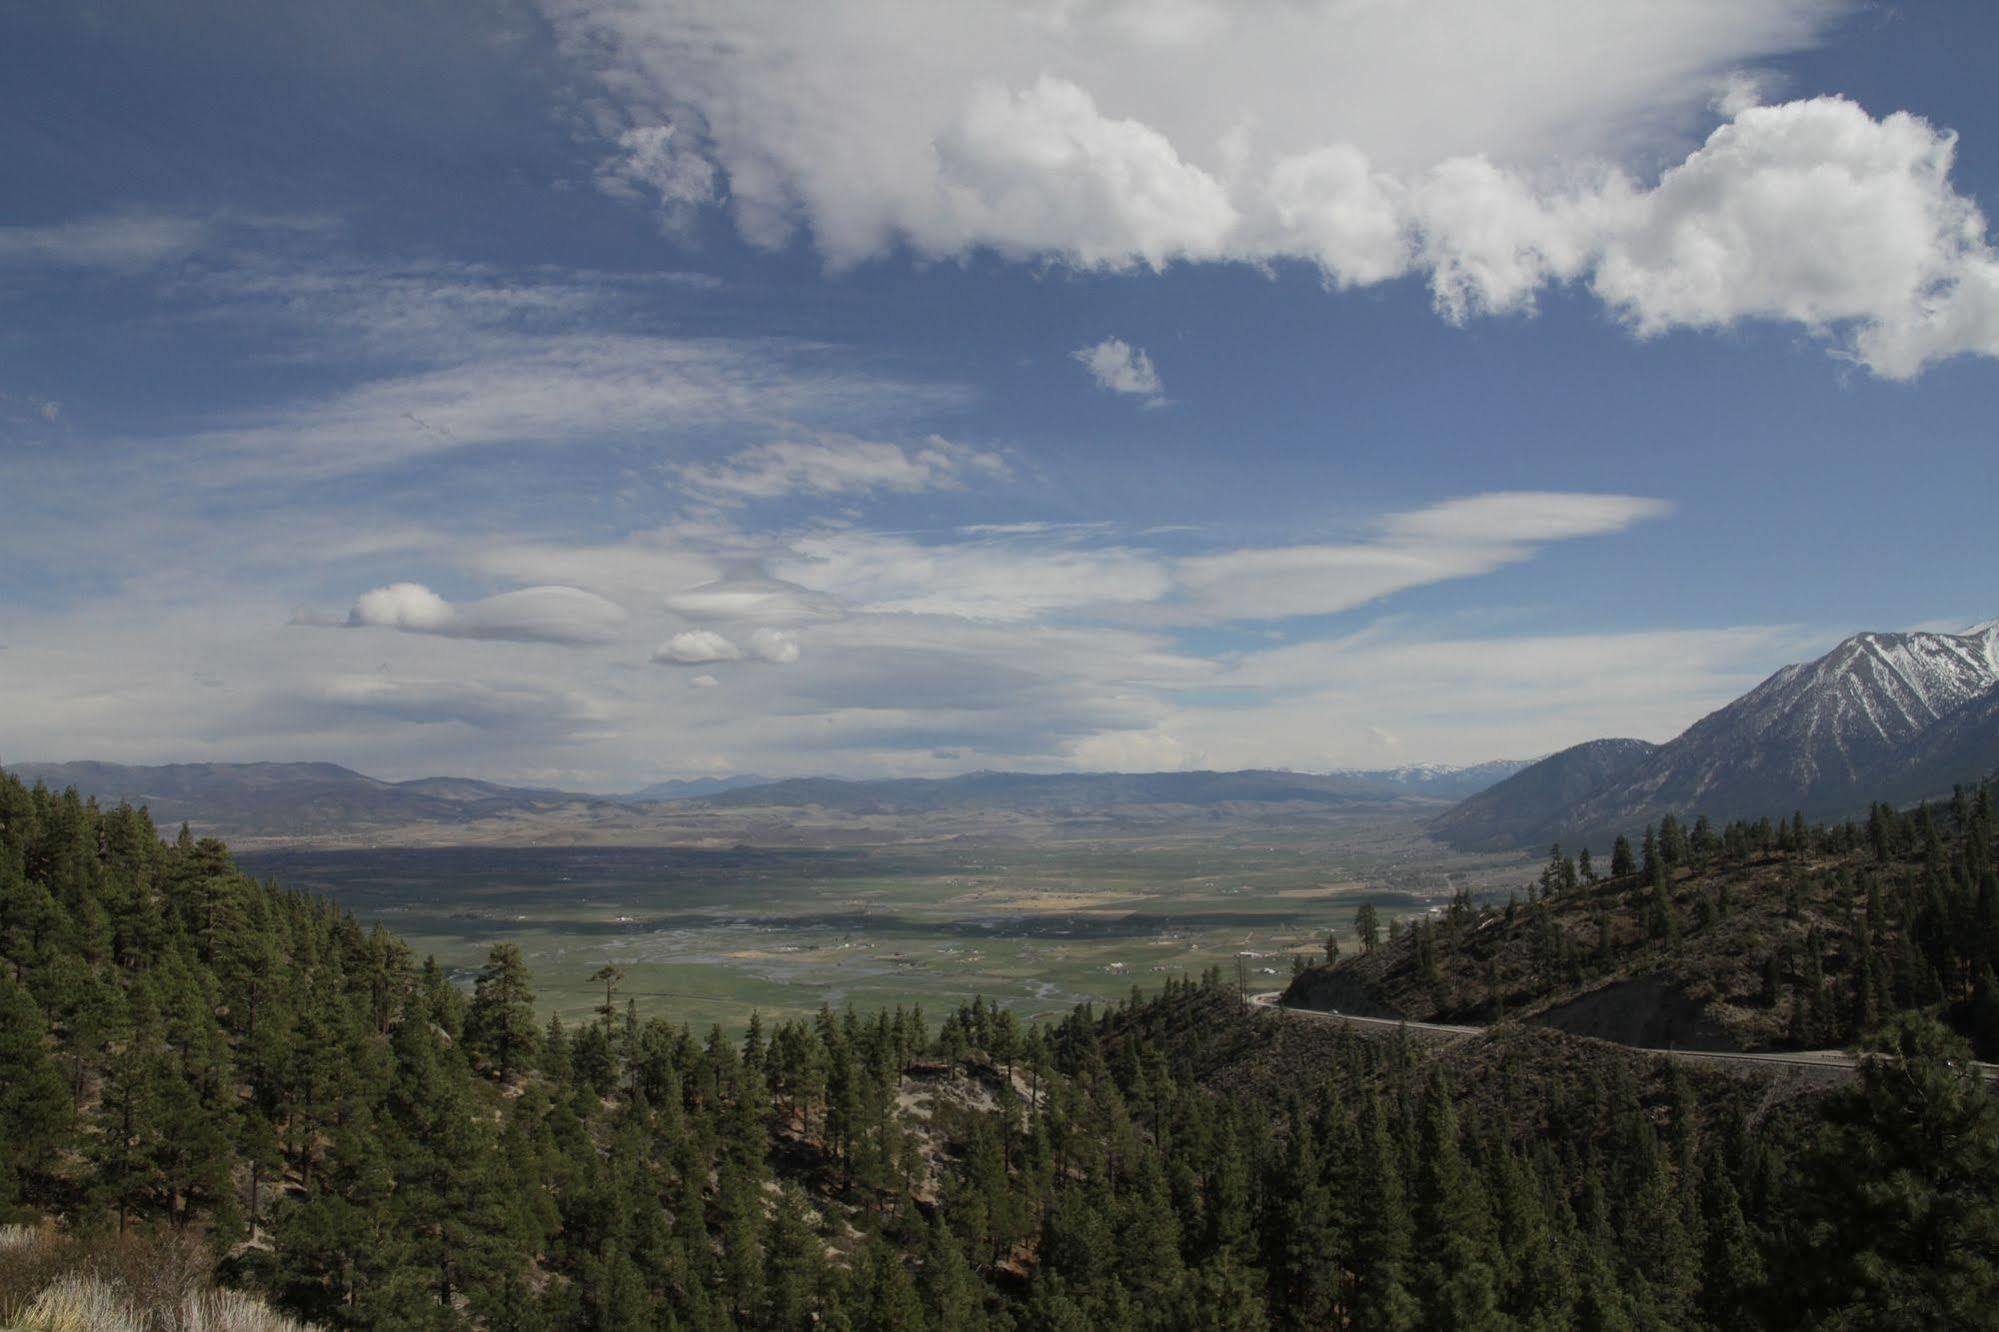
POLYGON ((1843 818, 1999 770, 1999 620, 1855 634, 1679 738, 1593 740, 1467 798, 1431 830, 1463 850, 1597 844, 1665 814, 1843 818))

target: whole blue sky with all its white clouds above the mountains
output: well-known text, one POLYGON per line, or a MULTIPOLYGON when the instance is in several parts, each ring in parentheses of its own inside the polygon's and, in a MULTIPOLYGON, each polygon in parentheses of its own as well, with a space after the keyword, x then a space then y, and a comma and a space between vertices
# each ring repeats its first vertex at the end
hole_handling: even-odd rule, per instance
POLYGON ((0 8, 0 762, 1297 770, 1999 614, 1979 0, 0 8))

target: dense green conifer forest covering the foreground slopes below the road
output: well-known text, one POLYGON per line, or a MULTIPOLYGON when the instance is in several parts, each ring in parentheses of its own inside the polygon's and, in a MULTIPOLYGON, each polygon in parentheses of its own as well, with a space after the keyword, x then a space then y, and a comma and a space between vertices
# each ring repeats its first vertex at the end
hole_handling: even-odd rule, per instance
POLYGON ((1519 1028, 1369 1040, 1213 974, 1051 1028, 740 1042, 600 980, 600 1020, 544 1026, 508 948, 462 994, 218 842, 0 778, 0 1220, 198 1244, 370 1328, 1987 1326, 1999 1296, 1999 1110, 1921 1016, 1827 1094, 1519 1028))

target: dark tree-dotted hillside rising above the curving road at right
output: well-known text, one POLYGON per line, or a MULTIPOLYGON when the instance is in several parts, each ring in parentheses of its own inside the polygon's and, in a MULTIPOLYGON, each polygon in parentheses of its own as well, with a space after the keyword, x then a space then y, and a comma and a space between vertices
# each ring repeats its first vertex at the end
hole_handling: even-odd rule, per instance
POLYGON ((1995 968, 1999 818, 1979 788, 1831 826, 1667 816, 1607 862, 1555 846, 1515 900, 1363 930, 1291 1000, 1723 1050, 1843 1046, 1921 1008, 1999 1058, 1995 968))

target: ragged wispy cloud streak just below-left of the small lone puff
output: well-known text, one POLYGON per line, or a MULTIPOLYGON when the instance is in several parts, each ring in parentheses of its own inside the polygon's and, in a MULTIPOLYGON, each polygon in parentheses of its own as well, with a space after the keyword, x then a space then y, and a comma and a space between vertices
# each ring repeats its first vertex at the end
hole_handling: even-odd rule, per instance
POLYGON ((826 434, 738 450, 722 462, 678 468, 682 486, 710 502, 774 500, 788 494, 958 490, 974 476, 1007 476, 1000 454, 930 436, 902 446, 826 434))

